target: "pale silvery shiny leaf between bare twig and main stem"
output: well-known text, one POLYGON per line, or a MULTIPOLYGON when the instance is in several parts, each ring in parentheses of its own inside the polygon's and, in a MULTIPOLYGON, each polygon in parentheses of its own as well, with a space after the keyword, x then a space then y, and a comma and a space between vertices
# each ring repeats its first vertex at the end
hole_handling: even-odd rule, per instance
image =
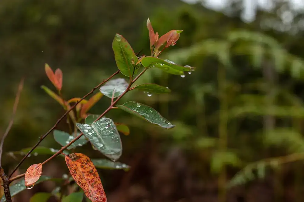
POLYGON ((114 92, 114 98, 119 97, 123 92, 126 91, 129 84, 126 82, 125 79, 112 79, 105 83, 105 85, 100 87, 100 92, 105 96, 112 98, 114 92))

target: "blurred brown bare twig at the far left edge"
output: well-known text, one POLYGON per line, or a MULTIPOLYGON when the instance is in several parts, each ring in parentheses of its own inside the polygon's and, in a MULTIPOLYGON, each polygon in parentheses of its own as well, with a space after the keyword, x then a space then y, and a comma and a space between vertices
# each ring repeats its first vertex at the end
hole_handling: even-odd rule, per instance
POLYGON ((19 99, 20 99, 22 89, 23 89, 23 84, 24 84, 24 78, 22 78, 20 83, 19 83, 18 91, 17 91, 16 98, 15 98, 15 103, 14 103, 14 106, 13 106, 12 118, 9 122, 9 125, 7 126, 7 128, 5 130, 5 133, 2 136, 2 140, 1 140, 1 143, 0 143, 0 167, 1 167, 1 159, 2 159, 2 153, 3 153, 4 140, 5 140, 6 136, 9 134, 9 131, 11 130, 12 125, 14 123, 14 118, 15 118, 16 111, 17 111, 17 106, 18 106, 18 103, 19 103, 19 99))

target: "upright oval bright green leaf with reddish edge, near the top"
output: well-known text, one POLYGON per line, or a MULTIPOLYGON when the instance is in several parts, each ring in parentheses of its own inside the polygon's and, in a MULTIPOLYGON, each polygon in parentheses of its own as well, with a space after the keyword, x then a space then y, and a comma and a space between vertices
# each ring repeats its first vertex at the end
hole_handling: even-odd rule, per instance
MULTIPOLYGON (((132 47, 122 35, 116 34, 112 43, 115 61, 120 72, 125 76, 133 76, 135 64, 138 61, 132 47)), ((137 73, 135 68, 134 74, 137 73)))

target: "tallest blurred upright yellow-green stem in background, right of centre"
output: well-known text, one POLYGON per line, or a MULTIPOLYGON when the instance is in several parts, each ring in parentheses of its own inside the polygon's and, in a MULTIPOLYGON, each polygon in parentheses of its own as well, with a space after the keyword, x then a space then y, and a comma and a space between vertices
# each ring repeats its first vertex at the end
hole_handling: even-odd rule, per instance
MULTIPOLYGON (((219 151, 227 150, 227 96, 226 96, 226 71, 219 65, 218 69, 219 88, 219 151)), ((219 202, 226 201, 226 168, 223 166, 219 175, 219 202)))

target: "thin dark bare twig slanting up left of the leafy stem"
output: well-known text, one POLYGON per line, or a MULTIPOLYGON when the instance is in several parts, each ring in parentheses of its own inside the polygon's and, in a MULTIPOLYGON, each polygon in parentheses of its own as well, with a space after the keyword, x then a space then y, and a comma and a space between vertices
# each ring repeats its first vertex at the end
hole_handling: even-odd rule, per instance
MULTIPOLYGON (((100 86, 102 86, 105 82, 109 81, 110 79, 112 79, 112 77, 114 77, 115 75, 117 75, 120 71, 116 71, 114 74, 112 74, 108 79, 103 80, 101 83, 99 83, 97 86, 95 86, 88 94, 86 94, 85 96, 83 96, 80 100, 78 100, 77 103, 75 103, 71 109, 67 110, 64 115, 62 115, 57 122, 55 123, 55 125, 49 130, 47 131, 47 133, 45 133, 43 136, 40 137, 40 140, 33 146, 33 148, 23 157, 23 159, 19 162, 19 164, 15 167, 15 169, 12 171, 12 173, 9 175, 9 178, 12 177, 12 174, 20 167, 20 165, 23 163, 23 161, 29 156, 29 154, 42 142, 42 140, 48 135, 50 134, 56 127, 57 125, 60 123, 60 121, 62 121, 64 119, 65 116, 67 116, 67 114, 72 111, 83 99, 85 99, 87 96, 89 96, 90 94, 92 94, 95 89, 99 88, 100 86)), ((76 137, 77 138, 77 137, 76 137)), ((77 139, 78 140, 78 139, 77 139)), ((75 140, 76 141, 76 140, 75 140)))

